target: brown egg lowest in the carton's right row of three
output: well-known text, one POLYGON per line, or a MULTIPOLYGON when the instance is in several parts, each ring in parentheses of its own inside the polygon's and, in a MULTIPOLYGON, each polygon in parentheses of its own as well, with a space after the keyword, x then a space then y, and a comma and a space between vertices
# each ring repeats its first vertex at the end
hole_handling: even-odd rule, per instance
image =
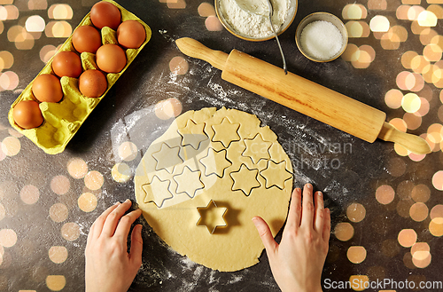
POLYGON ((106 76, 99 70, 86 70, 80 75, 79 89, 88 98, 99 98, 108 87, 106 76))

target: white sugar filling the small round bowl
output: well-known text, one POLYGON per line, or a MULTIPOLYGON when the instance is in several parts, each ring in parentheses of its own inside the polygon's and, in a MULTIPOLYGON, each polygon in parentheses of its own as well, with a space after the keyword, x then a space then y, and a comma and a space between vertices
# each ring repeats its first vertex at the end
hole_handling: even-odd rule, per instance
POLYGON ((343 37, 332 23, 316 20, 303 28, 300 42, 307 55, 317 59, 331 59, 341 50, 343 37))

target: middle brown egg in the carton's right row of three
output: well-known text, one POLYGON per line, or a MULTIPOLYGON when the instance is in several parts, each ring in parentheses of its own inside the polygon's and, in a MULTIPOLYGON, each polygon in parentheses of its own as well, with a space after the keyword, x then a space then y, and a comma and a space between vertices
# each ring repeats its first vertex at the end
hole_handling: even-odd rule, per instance
POLYGON ((106 73, 119 73, 126 66, 126 53, 117 44, 107 43, 98 48, 96 62, 106 73))

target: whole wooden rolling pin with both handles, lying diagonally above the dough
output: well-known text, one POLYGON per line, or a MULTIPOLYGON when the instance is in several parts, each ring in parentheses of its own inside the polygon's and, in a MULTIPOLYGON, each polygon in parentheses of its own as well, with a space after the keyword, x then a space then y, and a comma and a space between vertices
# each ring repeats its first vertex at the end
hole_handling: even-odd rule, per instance
POLYGON ((203 59, 221 70, 221 79, 273 100, 315 120, 329 124, 369 143, 377 138, 398 143, 415 154, 429 154, 431 147, 415 135, 397 130, 385 122, 386 114, 337 91, 288 73, 280 67, 244 52, 214 51, 183 37, 175 41, 184 54, 203 59))

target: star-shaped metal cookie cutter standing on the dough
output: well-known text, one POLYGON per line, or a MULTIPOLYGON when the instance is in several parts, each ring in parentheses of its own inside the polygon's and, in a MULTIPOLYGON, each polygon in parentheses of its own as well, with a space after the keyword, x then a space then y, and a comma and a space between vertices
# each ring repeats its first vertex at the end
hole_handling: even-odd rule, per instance
POLYGON ((197 207, 197 210, 200 215, 197 225, 206 226, 209 233, 213 234, 217 227, 227 226, 224 216, 228 208, 218 207, 215 201, 211 200, 206 207, 197 207))

